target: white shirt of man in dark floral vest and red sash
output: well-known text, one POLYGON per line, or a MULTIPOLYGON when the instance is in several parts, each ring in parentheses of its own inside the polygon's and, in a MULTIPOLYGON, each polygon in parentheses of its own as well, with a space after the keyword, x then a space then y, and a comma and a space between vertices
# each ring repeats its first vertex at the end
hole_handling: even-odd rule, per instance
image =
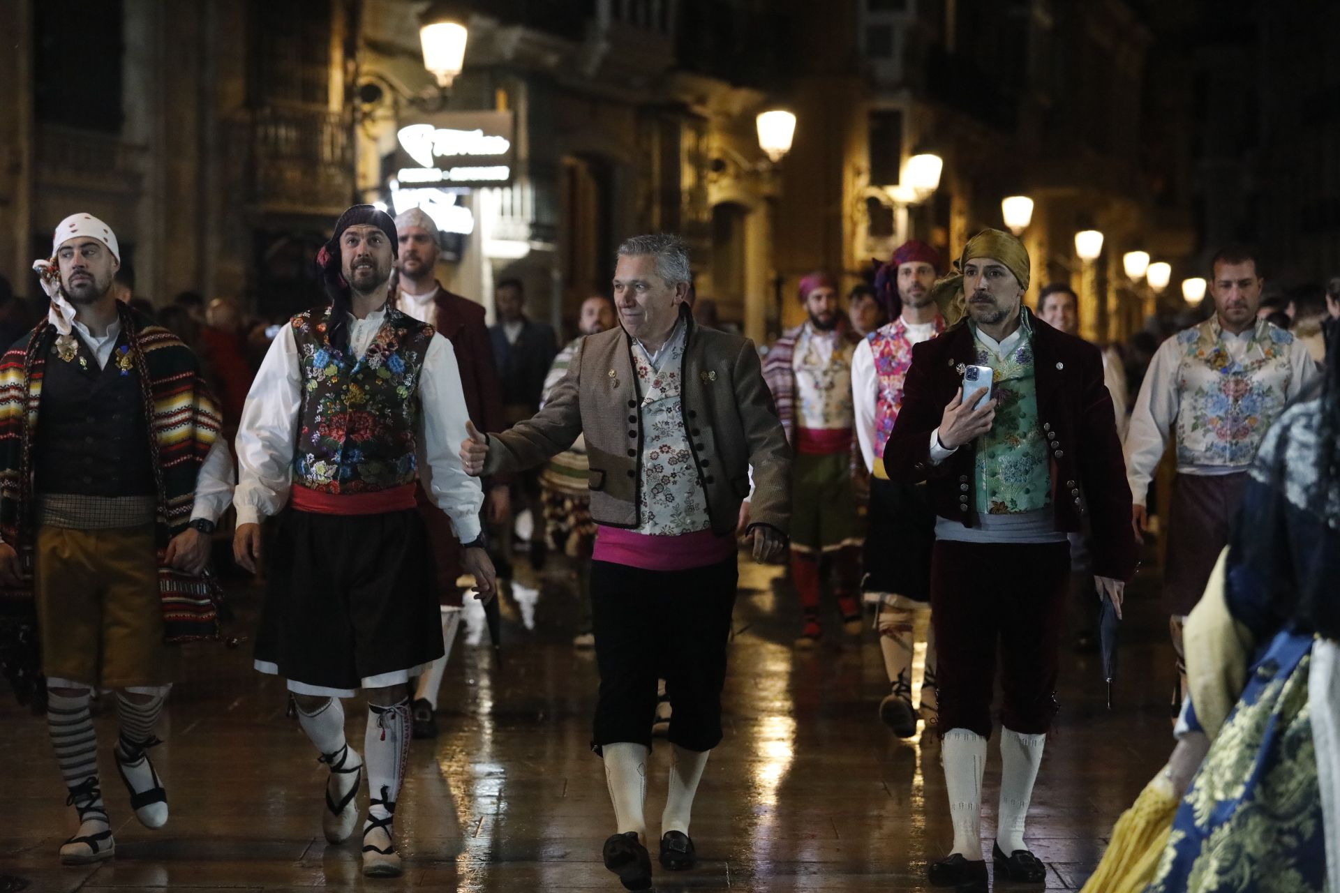
MULTIPOLYGON (((350 316, 350 349, 367 353, 382 328, 386 311, 367 319, 350 316)), ((418 399, 422 407, 414 440, 418 474, 429 498, 452 518, 461 542, 480 536, 484 491, 478 478, 465 474, 460 446, 465 440, 465 394, 452 343, 434 333, 423 355, 418 399)), ((237 430, 237 463, 241 481, 233 494, 237 523, 256 523, 288 502, 292 487, 293 451, 297 446, 299 412, 303 406, 303 372, 293 327, 285 325, 269 345, 252 383, 237 430)))

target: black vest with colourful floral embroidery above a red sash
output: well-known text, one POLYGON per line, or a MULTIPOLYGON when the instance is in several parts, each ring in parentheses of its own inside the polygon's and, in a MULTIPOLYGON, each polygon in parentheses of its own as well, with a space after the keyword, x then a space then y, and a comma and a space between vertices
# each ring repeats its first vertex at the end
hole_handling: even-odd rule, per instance
POLYGON ((433 327, 390 309, 367 355, 331 345, 328 309, 291 321, 303 403, 293 483, 323 493, 389 490, 417 479, 418 382, 433 327))

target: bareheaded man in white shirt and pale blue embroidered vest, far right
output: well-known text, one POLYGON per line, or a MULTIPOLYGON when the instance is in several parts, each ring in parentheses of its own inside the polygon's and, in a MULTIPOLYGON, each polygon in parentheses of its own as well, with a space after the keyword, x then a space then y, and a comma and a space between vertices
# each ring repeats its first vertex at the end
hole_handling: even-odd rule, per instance
POLYGON ((1139 536, 1148 529, 1144 495, 1168 432, 1177 428, 1163 601, 1178 653, 1178 704, 1186 692, 1182 624, 1227 542, 1248 469, 1266 428, 1320 375, 1293 335, 1257 320, 1265 280, 1252 252, 1225 248, 1210 269, 1214 316, 1159 347, 1126 435, 1126 473, 1139 536))

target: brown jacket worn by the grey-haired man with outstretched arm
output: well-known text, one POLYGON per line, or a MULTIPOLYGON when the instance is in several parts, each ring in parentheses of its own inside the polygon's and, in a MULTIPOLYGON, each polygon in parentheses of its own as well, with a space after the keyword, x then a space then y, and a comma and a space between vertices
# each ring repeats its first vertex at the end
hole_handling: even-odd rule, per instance
MULTIPOLYGON (((781 533, 791 522, 791 447, 748 339, 689 325, 681 367, 683 423, 708 497, 712 530, 736 526, 740 503, 754 494, 750 526, 781 533)), ((632 366, 632 339, 623 328, 582 340, 568 374, 544 408, 503 434, 489 435, 484 474, 543 463, 586 435, 591 517, 611 527, 636 527, 642 517, 642 403, 632 366)))

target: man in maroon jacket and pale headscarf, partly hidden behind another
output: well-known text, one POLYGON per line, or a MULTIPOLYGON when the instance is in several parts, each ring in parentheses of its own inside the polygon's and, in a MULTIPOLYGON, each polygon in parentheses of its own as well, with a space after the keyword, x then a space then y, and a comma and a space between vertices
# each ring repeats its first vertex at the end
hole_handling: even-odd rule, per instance
MULTIPOLYGON (((437 224, 418 208, 411 208, 395 218, 399 237, 399 288, 397 307, 419 320, 437 327, 456 351, 456 364, 461 371, 465 408, 470 422, 480 431, 501 431, 503 388, 498 384, 493 345, 484 324, 484 307, 453 295, 434 278, 438 254, 437 224)), ((485 515, 490 523, 501 523, 511 514, 508 487, 498 479, 485 483, 485 515)), ((437 582, 442 602, 442 641, 446 653, 433 661, 418 680, 414 694, 414 738, 437 736, 437 689, 442 684, 446 660, 452 656, 452 640, 461 623, 461 590, 456 585, 461 576, 461 546, 452 533, 452 523, 419 489, 419 514, 427 525, 437 564, 437 582)))

